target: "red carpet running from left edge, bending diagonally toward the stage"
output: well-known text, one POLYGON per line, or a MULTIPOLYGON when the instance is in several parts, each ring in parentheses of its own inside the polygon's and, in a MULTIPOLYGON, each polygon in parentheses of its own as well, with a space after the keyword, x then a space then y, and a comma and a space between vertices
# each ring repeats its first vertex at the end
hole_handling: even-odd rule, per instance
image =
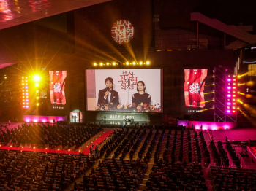
MULTIPOLYGON (((110 136, 110 134, 113 133, 113 130, 107 130, 105 131, 105 133, 103 133, 101 136, 99 136, 98 139, 96 139, 93 143, 91 144, 101 144, 102 141, 104 141, 105 139, 108 139, 108 136, 110 136)), ((90 144, 90 146, 91 146, 90 144)), ((58 148, 58 147, 57 147, 58 148)), ((87 147, 86 149, 84 149, 82 152, 84 153, 84 155, 89 155, 89 148, 87 147)), ((48 152, 48 153, 59 153, 59 154, 70 154, 70 155, 79 155, 79 151, 73 151, 71 149, 67 149, 67 150, 61 150, 61 149, 49 149, 46 148, 45 149, 39 149, 37 147, 32 147, 32 148, 28 148, 28 147, 13 147, 13 146, 1 146, 0 145, 0 149, 2 150, 16 150, 16 151, 31 151, 31 152, 48 152)))

